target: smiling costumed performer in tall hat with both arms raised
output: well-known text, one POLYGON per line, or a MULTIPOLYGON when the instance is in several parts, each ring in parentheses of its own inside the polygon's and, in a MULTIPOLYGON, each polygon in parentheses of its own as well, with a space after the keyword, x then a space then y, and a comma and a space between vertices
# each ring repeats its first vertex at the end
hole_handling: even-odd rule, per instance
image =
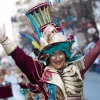
POLYGON ((43 93, 45 100, 83 100, 83 77, 100 54, 100 40, 85 56, 71 53, 74 36, 66 39, 61 27, 51 21, 48 2, 29 11, 29 18, 38 38, 29 38, 37 50, 37 60, 26 55, 21 48, 5 36, 0 28, 0 43, 6 53, 27 76, 28 88, 34 93, 43 93))

